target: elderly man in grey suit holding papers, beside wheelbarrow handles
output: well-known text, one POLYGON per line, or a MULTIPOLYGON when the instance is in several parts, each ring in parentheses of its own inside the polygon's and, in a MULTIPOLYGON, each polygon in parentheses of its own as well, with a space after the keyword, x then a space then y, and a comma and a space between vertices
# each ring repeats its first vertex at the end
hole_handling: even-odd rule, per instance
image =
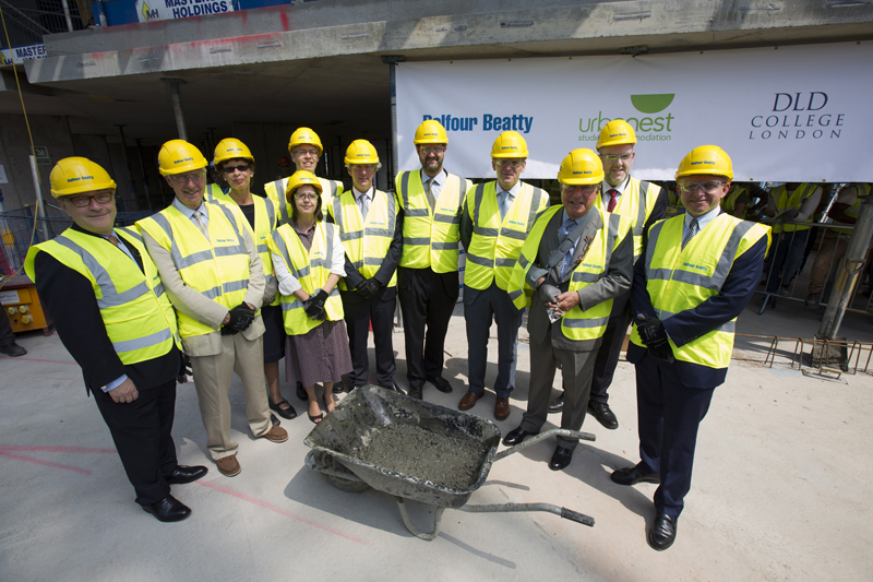
MULTIPOLYGON (((562 205, 537 218, 507 289, 519 309, 533 294, 527 412, 521 426, 503 439, 507 446, 540 431, 559 365, 564 377, 561 428, 582 428, 612 299, 630 289, 633 276, 630 221, 595 206, 603 180, 597 154, 584 149, 570 152, 558 180, 562 205)), ((549 468, 566 467, 577 444, 578 439, 558 437, 549 468)))

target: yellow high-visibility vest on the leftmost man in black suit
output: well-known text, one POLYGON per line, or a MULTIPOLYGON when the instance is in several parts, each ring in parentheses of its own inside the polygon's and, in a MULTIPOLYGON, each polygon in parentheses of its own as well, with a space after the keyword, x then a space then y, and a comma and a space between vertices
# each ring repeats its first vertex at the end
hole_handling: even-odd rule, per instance
POLYGON ((176 313, 136 227, 115 231, 124 245, 140 253, 142 270, 125 252, 101 237, 68 228, 56 238, 31 247, 24 263, 27 276, 36 281, 34 261, 44 251, 87 278, 106 334, 124 365, 164 356, 174 343, 181 349, 176 313))

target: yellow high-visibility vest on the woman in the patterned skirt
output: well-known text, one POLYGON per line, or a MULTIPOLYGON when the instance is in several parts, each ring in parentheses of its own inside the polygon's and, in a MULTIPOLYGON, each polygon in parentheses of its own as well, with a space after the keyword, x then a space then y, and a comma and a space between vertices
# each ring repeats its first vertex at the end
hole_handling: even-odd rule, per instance
MULTIPOLYGON (((300 237, 290 224, 284 224, 273 230, 267 245, 270 250, 282 257, 285 268, 297 278, 300 286, 310 294, 315 295, 327 283, 331 276, 331 259, 333 256, 334 237, 338 236, 338 228, 334 224, 321 221, 315 224, 315 234, 312 237, 312 247, 307 252, 300 237)), ((282 320, 285 322, 285 333, 288 335, 303 335, 321 321, 316 321, 303 311, 303 301, 296 295, 283 295, 282 320)), ((343 319, 343 300, 339 292, 334 286, 327 300, 324 302, 327 321, 343 319)))

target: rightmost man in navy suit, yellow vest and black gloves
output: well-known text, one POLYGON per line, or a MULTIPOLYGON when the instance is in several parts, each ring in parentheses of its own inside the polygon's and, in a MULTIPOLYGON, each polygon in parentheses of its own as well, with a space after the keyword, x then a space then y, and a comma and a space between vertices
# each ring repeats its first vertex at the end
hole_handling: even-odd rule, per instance
POLYGON ((733 179, 723 150, 695 147, 675 177, 686 213, 649 228, 631 292, 636 323, 627 359, 636 367, 642 460, 612 473, 620 485, 660 484, 646 536, 657 550, 675 539, 697 429, 725 381, 736 319, 757 286, 770 240, 769 227, 721 212, 733 179))

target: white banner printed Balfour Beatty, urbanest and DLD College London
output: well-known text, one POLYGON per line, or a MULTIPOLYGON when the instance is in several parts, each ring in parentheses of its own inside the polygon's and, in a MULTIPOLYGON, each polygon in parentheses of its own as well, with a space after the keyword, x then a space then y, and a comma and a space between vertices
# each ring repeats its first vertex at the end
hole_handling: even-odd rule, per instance
POLYGON ((870 41, 400 63, 399 166, 420 167, 412 136, 432 118, 449 131, 452 173, 492 177, 491 145, 515 130, 530 151, 522 178, 554 178, 571 150, 594 150, 603 124, 624 118, 637 178, 672 179, 693 147, 715 144, 736 180, 873 181, 871 63, 870 41))

